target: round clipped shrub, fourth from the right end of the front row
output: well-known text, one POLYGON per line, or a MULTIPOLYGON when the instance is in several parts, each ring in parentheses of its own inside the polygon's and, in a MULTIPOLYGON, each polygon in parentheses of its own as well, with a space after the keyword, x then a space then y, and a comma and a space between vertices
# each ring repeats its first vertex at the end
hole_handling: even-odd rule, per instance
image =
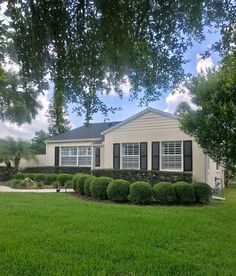
POLYGON ((134 203, 148 204, 152 200, 152 187, 145 181, 137 181, 130 185, 129 200, 134 203))

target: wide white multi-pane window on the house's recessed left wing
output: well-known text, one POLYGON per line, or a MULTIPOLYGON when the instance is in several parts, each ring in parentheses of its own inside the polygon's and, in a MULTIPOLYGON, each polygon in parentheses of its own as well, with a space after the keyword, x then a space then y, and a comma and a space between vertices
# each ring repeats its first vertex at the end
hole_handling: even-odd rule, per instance
POLYGON ((91 166, 91 147, 62 147, 61 166, 91 166))

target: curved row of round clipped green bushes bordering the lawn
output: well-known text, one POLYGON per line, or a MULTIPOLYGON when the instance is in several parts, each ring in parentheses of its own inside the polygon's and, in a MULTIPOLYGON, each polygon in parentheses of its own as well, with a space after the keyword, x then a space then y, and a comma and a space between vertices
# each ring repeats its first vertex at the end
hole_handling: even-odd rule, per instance
POLYGON ((176 182, 174 184, 160 182, 152 187, 145 181, 130 184, 124 179, 114 180, 110 177, 76 174, 72 183, 74 191, 81 195, 117 202, 131 201, 137 204, 206 203, 211 195, 211 187, 201 182, 176 182))

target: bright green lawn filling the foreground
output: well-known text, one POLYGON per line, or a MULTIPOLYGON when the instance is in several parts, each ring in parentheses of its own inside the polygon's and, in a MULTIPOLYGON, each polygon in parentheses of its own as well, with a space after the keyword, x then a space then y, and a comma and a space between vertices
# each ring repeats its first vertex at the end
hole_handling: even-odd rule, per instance
POLYGON ((158 207, 0 193, 0 275, 235 275, 236 187, 158 207))

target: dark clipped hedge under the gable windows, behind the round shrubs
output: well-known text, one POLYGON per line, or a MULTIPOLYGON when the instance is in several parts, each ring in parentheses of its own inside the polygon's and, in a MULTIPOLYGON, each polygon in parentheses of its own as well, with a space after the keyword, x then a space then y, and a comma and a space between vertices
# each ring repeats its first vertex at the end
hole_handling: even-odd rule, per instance
POLYGON ((131 183, 136 181, 145 181, 151 185, 158 182, 192 182, 192 173, 187 172, 101 169, 92 170, 91 174, 94 176, 107 176, 113 179, 124 179, 131 183))

